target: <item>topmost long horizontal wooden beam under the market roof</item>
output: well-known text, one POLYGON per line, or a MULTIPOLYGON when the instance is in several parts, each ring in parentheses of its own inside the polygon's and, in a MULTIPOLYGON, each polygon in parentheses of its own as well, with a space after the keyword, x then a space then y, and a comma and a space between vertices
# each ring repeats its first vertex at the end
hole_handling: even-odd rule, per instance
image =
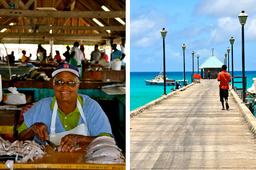
MULTIPOLYGON (((1 0, 0 0, 1 1, 1 0)), ((1 9, 0 16, 31 16, 52 18, 125 18, 125 11, 38 11, 1 9)))

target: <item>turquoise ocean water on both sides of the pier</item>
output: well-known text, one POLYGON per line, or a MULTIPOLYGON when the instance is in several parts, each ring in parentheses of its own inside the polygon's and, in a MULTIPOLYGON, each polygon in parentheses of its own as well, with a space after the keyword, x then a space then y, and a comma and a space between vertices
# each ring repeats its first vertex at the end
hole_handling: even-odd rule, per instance
MULTIPOLYGON (((185 78, 191 83, 192 71, 185 72, 185 78)), ((197 73, 197 71, 194 71, 197 73)), ((161 97, 164 94, 164 86, 146 86, 145 80, 154 79, 159 72, 130 72, 130 111, 141 107, 152 100, 161 97)), ((199 71, 199 74, 201 72, 199 71)), ((169 79, 183 79, 183 71, 165 72, 169 79)), ((230 71, 230 75, 232 72, 230 71)), ((242 71, 234 71, 234 77, 242 76, 242 71)), ((256 78, 256 71, 245 71, 246 89, 253 84, 253 78, 256 78)), ((234 81, 242 81, 242 78, 236 78, 234 81)), ((231 82, 232 83, 232 82, 231 82)), ((241 83, 235 83, 234 86, 242 88, 241 83)), ((174 88, 174 87, 173 87, 174 88)), ((172 86, 166 86, 166 94, 171 92, 172 86)))

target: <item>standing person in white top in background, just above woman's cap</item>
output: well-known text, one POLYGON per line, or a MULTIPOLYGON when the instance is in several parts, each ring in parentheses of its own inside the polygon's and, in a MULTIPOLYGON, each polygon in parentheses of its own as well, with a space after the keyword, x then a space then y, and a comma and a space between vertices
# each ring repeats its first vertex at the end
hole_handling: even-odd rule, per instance
POLYGON ((78 67, 80 78, 82 78, 82 73, 85 68, 84 55, 79 47, 79 42, 75 42, 71 49, 70 54, 70 64, 78 67))

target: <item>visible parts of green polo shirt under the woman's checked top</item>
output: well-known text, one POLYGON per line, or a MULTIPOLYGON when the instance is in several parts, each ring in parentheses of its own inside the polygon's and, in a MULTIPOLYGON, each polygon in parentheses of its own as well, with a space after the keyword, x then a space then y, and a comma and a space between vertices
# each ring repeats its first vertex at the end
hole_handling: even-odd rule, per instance
MULTIPOLYGON (((77 99, 82 106, 83 105, 83 97, 80 97, 79 95, 77 95, 77 99)), ((55 102, 56 102, 56 97, 54 97, 52 100, 51 110, 53 110, 55 102)), ((66 131, 73 129, 78 125, 78 121, 80 118, 80 112, 79 112, 77 106, 76 106, 75 110, 68 113, 68 115, 65 115, 65 113, 63 113, 59 108, 57 108, 57 110, 58 110, 58 114, 59 114, 62 126, 65 128, 66 131)), ((28 127, 23 122, 21 127, 19 127, 19 129, 18 129, 18 134, 21 131, 26 130, 26 129, 28 129, 28 127)), ((100 133, 98 136, 110 136, 110 134, 109 133, 100 133)))

